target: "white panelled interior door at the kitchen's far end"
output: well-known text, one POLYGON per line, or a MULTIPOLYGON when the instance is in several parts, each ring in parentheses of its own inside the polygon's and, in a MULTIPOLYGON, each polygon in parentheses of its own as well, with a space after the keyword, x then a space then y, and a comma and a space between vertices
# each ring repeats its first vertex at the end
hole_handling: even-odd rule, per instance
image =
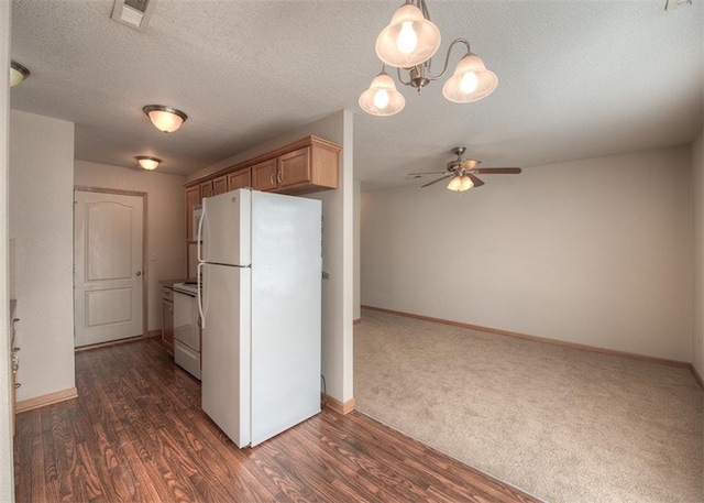
POLYGON ((143 206, 140 196, 75 192, 76 347, 142 335, 143 206))

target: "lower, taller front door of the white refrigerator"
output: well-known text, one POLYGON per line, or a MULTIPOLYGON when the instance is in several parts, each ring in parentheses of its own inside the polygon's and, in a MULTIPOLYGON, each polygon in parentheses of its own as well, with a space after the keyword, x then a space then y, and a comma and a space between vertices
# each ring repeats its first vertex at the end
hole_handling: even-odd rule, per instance
POLYGON ((251 273, 202 265, 202 409, 238 447, 251 442, 251 273))

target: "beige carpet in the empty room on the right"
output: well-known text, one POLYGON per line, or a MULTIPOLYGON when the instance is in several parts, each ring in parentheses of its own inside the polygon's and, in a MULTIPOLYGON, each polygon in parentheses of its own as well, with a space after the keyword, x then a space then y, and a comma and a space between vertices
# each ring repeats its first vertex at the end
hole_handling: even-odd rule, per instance
POLYGON ((550 502, 704 502, 688 369, 362 311, 356 408, 550 502))

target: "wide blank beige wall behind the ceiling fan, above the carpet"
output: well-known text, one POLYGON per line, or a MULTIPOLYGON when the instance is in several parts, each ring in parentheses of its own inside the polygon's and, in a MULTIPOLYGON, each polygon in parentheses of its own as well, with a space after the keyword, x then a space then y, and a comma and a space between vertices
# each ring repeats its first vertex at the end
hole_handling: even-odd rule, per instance
POLYGON ((690 149, 363 194, 362 304, 691 361, 690 149))

